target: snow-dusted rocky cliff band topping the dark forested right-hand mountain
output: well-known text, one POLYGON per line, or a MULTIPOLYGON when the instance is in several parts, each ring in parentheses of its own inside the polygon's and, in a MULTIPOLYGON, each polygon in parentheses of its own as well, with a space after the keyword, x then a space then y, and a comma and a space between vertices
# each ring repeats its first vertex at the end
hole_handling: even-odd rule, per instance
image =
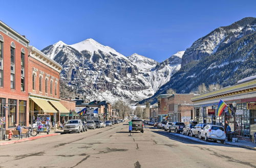
POLYGON ((256 18, 246 17, 231 25, 219 27, 208 35, 195 41, 187 48, 181 66, 192 61, 201 60, 217 51, 225 49, 240 38, 256 30, 256 18))

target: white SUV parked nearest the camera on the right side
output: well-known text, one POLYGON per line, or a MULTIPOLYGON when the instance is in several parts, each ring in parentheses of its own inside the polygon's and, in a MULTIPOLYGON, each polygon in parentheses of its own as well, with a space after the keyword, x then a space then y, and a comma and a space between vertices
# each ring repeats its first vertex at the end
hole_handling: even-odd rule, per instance
POLYGON ((208 124, 200 131, 198 138, 204 138, 205 141, 220 141, 223 144, 226 139, 226 133, 222 126, 208 124))

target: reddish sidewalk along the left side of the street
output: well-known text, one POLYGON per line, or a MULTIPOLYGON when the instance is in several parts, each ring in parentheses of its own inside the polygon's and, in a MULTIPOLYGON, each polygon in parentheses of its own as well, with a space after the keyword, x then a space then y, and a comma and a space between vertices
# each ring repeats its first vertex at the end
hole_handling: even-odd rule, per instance
POLYGON ((39 133, 36 136, 30 136, 30 137, 24 136, 24 138, 13 137, 12 140, 10 140, 10 141, 7 138, 7 139, 5 139, 5 141, 0 141, 0 146, 16 144, 16 143, 21 143, 21 142, 25 142, 25 141, 31 141, 31 140, 42 138, 42 137, 49 137, 49 136, 60 135, 60 132, 62 132, 62 130, 57 130, 56 129, 56 132, 51 130, 49 134, 47 134, 47 133, 39 133))

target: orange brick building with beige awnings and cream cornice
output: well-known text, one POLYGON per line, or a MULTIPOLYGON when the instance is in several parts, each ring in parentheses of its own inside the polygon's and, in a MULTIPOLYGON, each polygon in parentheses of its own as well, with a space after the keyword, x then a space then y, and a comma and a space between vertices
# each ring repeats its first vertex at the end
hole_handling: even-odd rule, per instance
POLYGON ((29 121, 38 114, 51 115, 51 124, 60 121, 61 115, 69 116, 69 110, 60 103, 59 73, 62 66, 33 46, 29 46, 28 92, 29 121))

